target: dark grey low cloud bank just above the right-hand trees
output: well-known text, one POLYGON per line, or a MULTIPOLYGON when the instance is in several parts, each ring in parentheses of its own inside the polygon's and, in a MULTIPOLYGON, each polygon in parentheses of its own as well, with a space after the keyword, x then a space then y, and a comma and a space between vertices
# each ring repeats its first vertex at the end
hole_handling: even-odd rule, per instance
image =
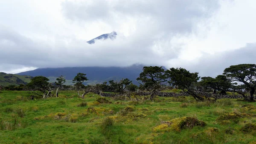
POLYGON ((215 54, 205 54, 198 62, 180 64, 192 72, 199 72, 199 76, 215 77, 223 73, 230 65, 253 64, 256 62, 256 43, 248 43, 245 47, 232 51, 223 51, 215 54))

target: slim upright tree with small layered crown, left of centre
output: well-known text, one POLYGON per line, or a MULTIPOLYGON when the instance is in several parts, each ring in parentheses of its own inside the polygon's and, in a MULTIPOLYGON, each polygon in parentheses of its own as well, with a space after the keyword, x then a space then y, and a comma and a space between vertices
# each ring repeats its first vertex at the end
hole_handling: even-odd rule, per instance
POLYGON ((79 90, 82 88, 85 88, 85 86, 83 85, 83 82, 87 80, 88 79, 86 77, 86 74, 84 73, 77 73, 77 75, 73 79, 73 83, 75 83, 74 86, 76 87, 77 93, 82 99, 84 99, 84 95, 86 95, 86 93, 88 93, 89 91, 84 90, 84 93, 80 95, 79 90))

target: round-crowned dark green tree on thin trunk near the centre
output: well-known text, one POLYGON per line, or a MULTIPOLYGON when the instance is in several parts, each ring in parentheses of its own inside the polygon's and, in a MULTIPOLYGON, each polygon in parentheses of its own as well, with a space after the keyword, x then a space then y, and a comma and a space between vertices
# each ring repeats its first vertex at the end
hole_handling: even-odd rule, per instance
POLYGON ((137 81, 150 92, 150 100, 152 100, 154 99, 154 92, 166 82, 164 69, 158 66, 145 66, 137 81))

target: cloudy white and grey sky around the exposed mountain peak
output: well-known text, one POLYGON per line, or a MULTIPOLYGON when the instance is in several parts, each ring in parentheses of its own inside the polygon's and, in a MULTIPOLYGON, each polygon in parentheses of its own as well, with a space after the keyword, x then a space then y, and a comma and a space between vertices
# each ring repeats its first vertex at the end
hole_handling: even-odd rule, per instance
POLYGON ((0 71, 256 62, 256 0, 0 0, 0 71), (87 41, 117 32, 115 40, 87 41))

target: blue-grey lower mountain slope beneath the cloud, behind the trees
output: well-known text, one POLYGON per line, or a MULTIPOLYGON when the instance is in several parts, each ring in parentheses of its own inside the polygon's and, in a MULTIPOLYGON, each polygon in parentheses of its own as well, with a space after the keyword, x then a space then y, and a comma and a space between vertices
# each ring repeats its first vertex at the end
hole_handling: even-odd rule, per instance
POLYGON ((136 79, 142 72, 143 65, 132 65, 129 67, 75 67, 75 68, 38 68, 33 71, 17 73, 18 75, 45 76, 54 82, 58 76, 65 76, 66 85, 71 85, 71 80, 77 73, 86 73, 89 79, 85 82, 88 85, 100 82, 108 82, 109 80, 120 80, 128 78, 134 84, 138 84, 136 79))

